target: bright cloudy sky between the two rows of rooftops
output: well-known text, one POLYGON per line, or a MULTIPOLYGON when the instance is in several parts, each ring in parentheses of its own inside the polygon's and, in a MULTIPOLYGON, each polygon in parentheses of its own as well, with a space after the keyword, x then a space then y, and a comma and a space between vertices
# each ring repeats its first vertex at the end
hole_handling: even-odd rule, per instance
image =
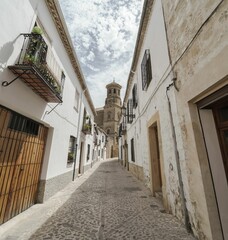
POLYGON ((124 97, 143 0, 59 0, 94 106, 103 107, 106 85, 124 97))

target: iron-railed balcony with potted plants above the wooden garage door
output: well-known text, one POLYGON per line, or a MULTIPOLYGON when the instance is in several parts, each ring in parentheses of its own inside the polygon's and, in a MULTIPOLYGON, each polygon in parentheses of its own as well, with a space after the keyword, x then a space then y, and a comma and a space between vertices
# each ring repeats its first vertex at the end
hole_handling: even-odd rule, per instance
MULTIPOLYGON (((40 34, 22 34, 18 61, 8 68, 46 102, 62 102, 61 69, 40 34)), ((3 86, 10 85, 3 82, 3 86)))

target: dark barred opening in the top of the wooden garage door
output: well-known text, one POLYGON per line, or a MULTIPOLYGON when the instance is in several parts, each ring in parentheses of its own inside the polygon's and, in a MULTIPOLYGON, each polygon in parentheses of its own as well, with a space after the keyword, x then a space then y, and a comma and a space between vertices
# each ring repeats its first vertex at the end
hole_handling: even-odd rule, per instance
POLYGON ((38 135, 39 123, 18 113, 12 113, 8 128, 32 135, 38 135))

